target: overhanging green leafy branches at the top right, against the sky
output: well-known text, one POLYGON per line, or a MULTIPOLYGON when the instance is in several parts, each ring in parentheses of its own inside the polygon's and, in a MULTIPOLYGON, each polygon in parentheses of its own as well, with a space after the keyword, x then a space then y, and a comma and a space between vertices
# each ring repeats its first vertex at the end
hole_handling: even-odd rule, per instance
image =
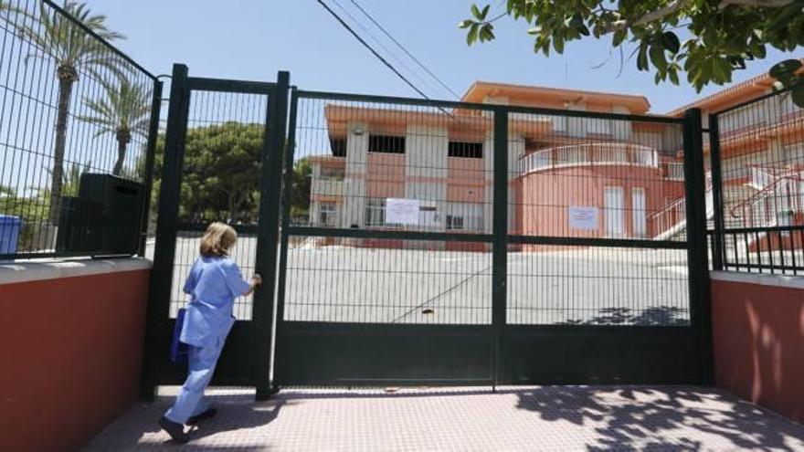
MULTIPOLYGON (((472 5, 471 18, 460 22, 469 45, 494 39, 493 24, 508 16, 531 26, 534 52, 561 54, 568 42, 610 37, 620 52, 630 44, 637 68, 653 70, 656 83, 677 85, 685 73, 699 91, 731 82, 768 47, 804 46, 804 0, 507 0, 501 14, 491 9, 472 5)), ((800 69, 801 61, 788 59, 770 72, 775 88, 795 87, 793 99, 804 107, 800 69)))

